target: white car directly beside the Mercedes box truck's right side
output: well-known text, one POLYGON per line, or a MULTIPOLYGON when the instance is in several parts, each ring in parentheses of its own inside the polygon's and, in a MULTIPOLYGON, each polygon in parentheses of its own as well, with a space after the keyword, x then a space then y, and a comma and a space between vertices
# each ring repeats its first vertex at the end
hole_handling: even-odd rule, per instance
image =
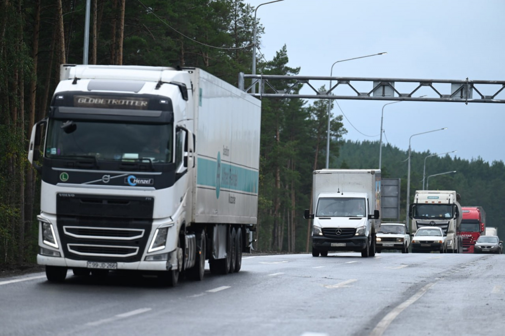
POLYGON ((401 253, 409 253, 410 232, 403 223, 381 223, 381 229, 377 232, 376 251, 401 250, 401 253))

